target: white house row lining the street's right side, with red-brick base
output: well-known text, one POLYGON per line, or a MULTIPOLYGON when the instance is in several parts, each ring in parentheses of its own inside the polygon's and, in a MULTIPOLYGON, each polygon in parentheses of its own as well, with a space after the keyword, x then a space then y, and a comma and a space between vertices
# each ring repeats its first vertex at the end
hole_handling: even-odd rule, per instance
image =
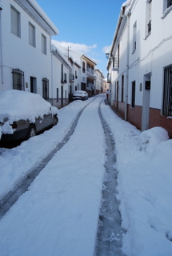
POLYGON ((172 137, 172 1, 128 0, 114 33, 110 102, 123 118, 146 130, 162 126, 172 137))

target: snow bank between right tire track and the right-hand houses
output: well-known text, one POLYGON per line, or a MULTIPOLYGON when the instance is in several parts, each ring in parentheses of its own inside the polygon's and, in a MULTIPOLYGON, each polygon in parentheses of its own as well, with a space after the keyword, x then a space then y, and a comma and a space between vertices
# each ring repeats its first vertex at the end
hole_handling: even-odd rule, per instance
POLYGON ((172 255, 172 140, 155 127, 140 132, 102 107, 117 150, 122 250, 127 256, 172 255))

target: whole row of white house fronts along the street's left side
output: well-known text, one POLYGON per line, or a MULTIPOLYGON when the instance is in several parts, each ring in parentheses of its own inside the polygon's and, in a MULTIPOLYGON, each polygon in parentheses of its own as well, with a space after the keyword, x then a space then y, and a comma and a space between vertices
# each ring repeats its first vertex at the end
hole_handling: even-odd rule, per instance
POLYGON ((0 90, 40 94, 58 108, 75 90, 94 95, 96 63, 79 52, 62 54, 51 44, 56 34, 35 0, 0 0, 0 90))

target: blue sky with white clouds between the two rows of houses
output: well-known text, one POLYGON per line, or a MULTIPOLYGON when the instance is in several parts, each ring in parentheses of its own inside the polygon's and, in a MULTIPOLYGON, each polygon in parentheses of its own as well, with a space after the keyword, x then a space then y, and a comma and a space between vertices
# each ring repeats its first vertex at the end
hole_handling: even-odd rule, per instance
POLYGON ((125 0, 36 0, 59 34, 52 39, 58 45, 85 53, 97 62, 106 76, 107 47, 110 47, 125 0))

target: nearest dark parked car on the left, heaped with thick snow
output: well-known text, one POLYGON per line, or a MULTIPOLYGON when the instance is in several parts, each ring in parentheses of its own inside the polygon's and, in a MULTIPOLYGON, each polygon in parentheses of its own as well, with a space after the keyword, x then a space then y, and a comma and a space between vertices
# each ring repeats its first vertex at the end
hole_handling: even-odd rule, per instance
POLYGON ((58 123, 58 108, 39 94, 22 90, 0 91, 0 140, 33 137, 58 123))

